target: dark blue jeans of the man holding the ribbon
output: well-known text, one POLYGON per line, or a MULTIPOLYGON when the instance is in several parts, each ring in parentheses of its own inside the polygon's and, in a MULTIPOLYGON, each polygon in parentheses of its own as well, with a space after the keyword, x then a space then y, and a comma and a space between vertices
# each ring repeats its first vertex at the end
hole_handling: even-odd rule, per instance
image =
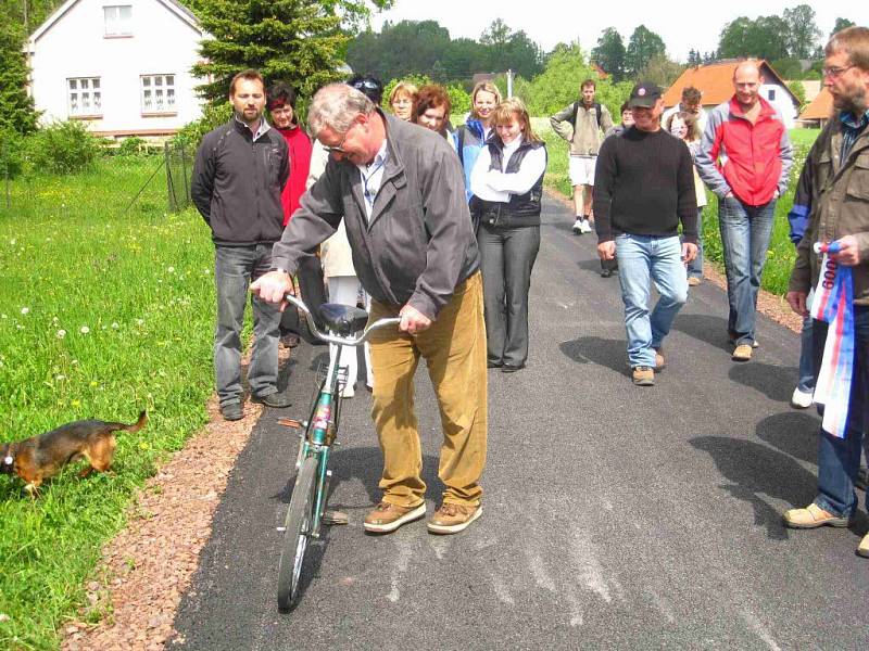
MULTIPOLYGON (((860 447, 867 447, 869 457, 869 307, 854 309, 856 341, 854 346, 854 380, 845 438, 820 431, 818 445, 818 497, 815 503, 837 516, 851 515, 857 510, 854 478, 860 467, 860 447)), ((813 323, 813 348, 816 368, 820 370, 827 323, 813 323)), ((819 412, 822 410, 819 408, 819 412)), ((869 500, 869 498, 867 498, 869 500)), ((869 510, 869 503, 867 503, 869 510)))

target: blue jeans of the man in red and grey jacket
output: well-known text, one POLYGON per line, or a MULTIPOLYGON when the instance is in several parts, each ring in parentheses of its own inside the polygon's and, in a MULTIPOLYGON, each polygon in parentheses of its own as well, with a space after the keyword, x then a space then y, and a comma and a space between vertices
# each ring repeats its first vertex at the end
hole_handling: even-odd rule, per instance
POLYGON ((774 217, 774 199, 763 206, 747 206, 735 196, 718 200, 730 304, 727 329, 736 345, 754 342, 757 292, 774 217))

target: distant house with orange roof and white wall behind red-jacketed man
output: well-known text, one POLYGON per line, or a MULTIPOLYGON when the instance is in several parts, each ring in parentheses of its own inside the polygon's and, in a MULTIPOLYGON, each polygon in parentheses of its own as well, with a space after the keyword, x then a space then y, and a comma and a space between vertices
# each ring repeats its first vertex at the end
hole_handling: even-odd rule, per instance
MULTIPOLYGON (((689 86, 703 93, 704 108, 714 108, 726 102, 733 97, 733 72, 739 64, 739 61, 721 61, 688 68, 664 93, 664 105, 676 106, 681 100, 682 89, 689 86)), ((760 97, 779 110, 786 128, 793 128, 799 100, 766 61, 760 62, 760 74, 765 80, 760 97)))

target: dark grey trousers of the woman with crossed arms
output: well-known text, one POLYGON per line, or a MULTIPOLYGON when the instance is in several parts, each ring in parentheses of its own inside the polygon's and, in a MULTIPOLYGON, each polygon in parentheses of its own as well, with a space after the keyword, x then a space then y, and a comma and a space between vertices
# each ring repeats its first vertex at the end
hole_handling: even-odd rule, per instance
POLYGON ((486 307, 489 363, 522 367, 528 359, 528 290, 540 251, 540 227, 477 231, 486 307))

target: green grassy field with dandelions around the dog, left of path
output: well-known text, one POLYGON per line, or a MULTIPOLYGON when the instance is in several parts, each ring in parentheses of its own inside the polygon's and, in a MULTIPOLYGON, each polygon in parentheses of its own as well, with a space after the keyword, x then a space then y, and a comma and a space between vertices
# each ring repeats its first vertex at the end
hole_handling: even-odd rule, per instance
MULTIPOLYGON (((68 421, 133 422, 114 474, 67 468, 29 499, 0 475, 0 649, 53 649, 83 605, 100 547, 155 463, 206 420, 213 247, 193 210, 166 214, 158 158, 101 159, 0 196, 0 441, 68 421)), ((111 613, 88 613, 96 621, 111 613)))

